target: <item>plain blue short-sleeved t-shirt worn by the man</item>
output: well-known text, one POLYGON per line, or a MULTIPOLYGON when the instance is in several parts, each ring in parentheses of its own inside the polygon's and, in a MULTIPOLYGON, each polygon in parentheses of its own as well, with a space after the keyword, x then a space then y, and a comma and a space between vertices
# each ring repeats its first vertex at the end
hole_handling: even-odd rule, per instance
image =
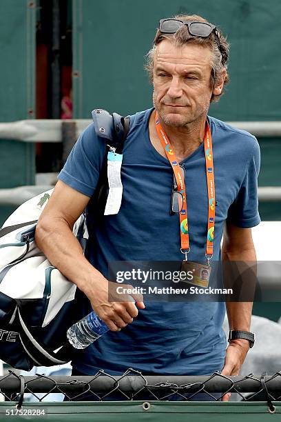
MULTIPOLYGON (((178 214, 170 215, 173 171, 149 139, 153 109, 131 116, 123 148, 123 197, 116 215, 103 217, 91 233, 87 258, 107 277, 110 261, 181 261, 178 214)), ((214 260, 226 220, 241 228, 260 223, 258 172, 260 149, 251 134, 208 117, 214 153, 216 228, 214 260)), ((90 124, 74 145, 59 179, 91 197, 105 157, 105 141, 90 124)), ((190 261, 203 261, 207 239, 207 179, 204 144, 184 159, 190 261)), ((91 219, 91 214, 88 214, 91 219)), ((93 219, 93 217, 92 217, 93 219)), ((122 374, 211 374, 224 365, 227 341, 222 330, 223 302, 145 303, 133 323, 107 332, 85 350, 76 350, 72 365, 85 374, 103 369, 122 374)), ((90 312, 85 303, 85 314, 90 312)))

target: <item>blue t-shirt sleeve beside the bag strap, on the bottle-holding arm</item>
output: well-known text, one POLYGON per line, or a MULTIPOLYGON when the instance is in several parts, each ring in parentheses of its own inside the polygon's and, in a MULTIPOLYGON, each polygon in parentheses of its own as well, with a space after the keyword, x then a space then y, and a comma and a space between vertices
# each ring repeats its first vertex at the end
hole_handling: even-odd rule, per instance
POLYGON ((96 136, 91 123, 76 141, 58 179, 92 197, 105 157, 105 141, 96 136))

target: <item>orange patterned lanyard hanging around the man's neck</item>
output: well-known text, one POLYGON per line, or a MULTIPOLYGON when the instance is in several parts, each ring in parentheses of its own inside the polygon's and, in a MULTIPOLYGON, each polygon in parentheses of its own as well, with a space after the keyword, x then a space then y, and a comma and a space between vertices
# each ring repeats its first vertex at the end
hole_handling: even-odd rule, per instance
MULTIPOLYGON (((180 166, 167 134, 163 130, 160 121, 158 120, 158 112, 155 112, 155 127, 158 133, 158 137, 162 143, 162 146, 167 155, 167 159, 171 164, 171 168, 174 171, 176 178, 176 184, 178 192, 183 194, 183 208, 179 213, 180 216, 180 252, 185 254, 185 260, 187 260, 187 254, 189 253, 189 234, 187 225, 187 199, 185 190, 185 178, 182 177, 180 172, 180 166)), ((208 187, 208 230, 207 230, 207 245, 205 256, 207 261, 213 257, 213 242, 214 242, 214 230, 215 230, 215 211, 216 211, 216 197, 215 197, 215 178, 214 178, 214 162, 213 162, 213 150, 211 143, 211 130, 209 123, 206 120, 206 130, 204 137, 204 148, 205 148, 205 163, 206 163, 206 177, 208 187)))

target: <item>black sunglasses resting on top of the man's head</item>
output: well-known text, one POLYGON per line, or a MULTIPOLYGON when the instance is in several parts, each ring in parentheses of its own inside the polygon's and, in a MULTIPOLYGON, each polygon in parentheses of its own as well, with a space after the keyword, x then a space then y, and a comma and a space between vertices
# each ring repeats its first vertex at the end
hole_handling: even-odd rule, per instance
POLYGON ((179 28, 186 25, 189 34, 194 35, 194 37, 202 37, 207 38, 211 32, 216 31, 216 26, 212 25, 209 22, 201 22, 201 21, 180 21, 180 19, 161 19, 159 21, 159 30, 163 32, 163 34, 174 34, 179 28))

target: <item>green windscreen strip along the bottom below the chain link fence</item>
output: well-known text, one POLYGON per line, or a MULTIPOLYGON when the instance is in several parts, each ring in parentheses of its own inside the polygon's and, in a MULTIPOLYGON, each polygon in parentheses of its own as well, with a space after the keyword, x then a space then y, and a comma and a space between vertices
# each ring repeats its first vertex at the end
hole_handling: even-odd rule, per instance
MULTIPOLYGON (((143 409, 143 402, 119 401, 103 403, 32 403, 23 409, 45 409, 45 416, 3 416, 14 422, 23 420, 48 422, 267 422, 281 421, 280 402, 274 403, 275 414, 270 414, 266 402, 251 403, 171 403, 152 401, 149 409, 143 409)), ((15 410, 14 403, 0 403, 0 416, 6 410, 15 410)), ((6 419, 0 419, 6 420, 6 419)))

